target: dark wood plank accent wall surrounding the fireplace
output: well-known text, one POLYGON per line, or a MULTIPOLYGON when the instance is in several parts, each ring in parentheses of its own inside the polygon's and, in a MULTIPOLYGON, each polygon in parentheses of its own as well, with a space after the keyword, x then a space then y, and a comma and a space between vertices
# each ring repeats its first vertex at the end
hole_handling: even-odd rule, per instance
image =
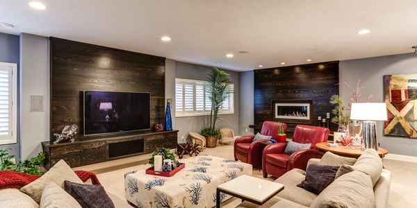
MULTIPOLYGON (((272 120, 272 101, 313 101, 311 123, 285 122, 287 136, 292 137, 295 125, 319 125, 318 116, 332 112, 329 98, 338 94, 338 61, 277 67, 254 71, 254 130, 259 132, 263 121, 272 120)), ((283 121, 284 122, 284 121, 283 121)), ((337 126, 330 124, 331 130, 337 126)))

